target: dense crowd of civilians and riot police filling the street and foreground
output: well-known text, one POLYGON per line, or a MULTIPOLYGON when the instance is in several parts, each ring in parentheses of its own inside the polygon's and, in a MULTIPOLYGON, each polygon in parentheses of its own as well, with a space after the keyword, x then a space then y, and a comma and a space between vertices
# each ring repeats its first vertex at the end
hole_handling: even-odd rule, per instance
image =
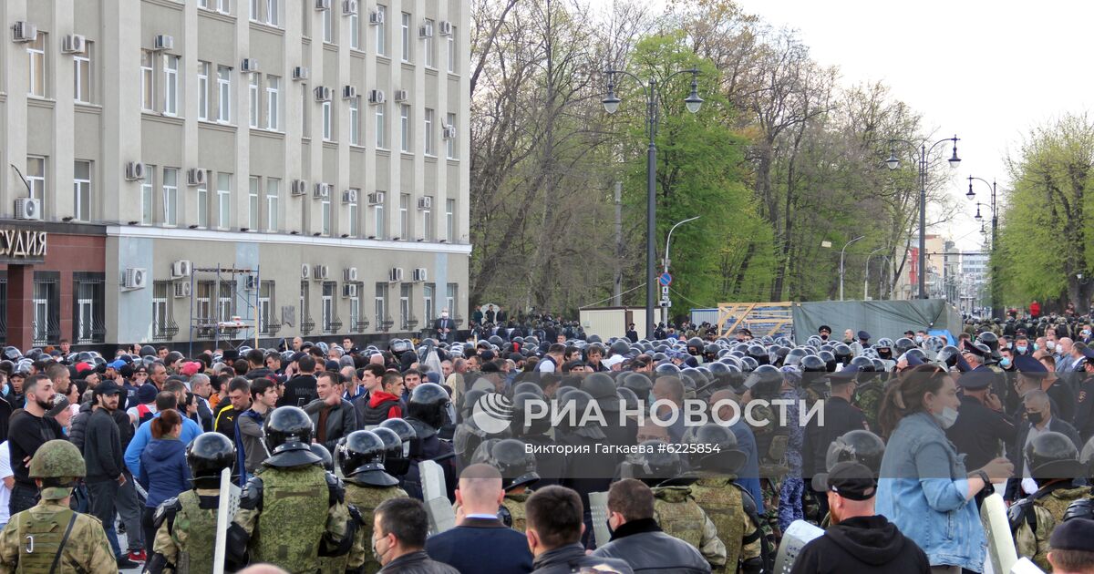
POLYGON ((798 344, 542 319, 554 339, 4 348, 0 571, 211 572, 231 469, 229 571, 759 573, 808 522, 826 530, 794 573, 985 572, 979 507, 1000 487, 1020 555, 1094 572, 1076 317, 798 344))

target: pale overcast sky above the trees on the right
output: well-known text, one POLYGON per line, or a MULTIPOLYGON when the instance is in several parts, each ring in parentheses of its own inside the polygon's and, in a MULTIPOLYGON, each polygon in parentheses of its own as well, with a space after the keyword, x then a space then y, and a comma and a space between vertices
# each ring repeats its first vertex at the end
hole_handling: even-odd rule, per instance
MULTIPOLYGON (((841 84, 881 80, 922 113, 936 139, 962 139, 951 192, 961 196, 967 213, 948 230, 929 233, 942 231, 963 249, 980 243, 976 210, 964 197, 967 177, 1009 186, 1005 157, 1029 129, 1084 113, 1094 101, 1094 75, 1085 66, 1094 2, 737 2, 776 27, 796 28, 816 61, 839 67, 841 84)), ((974 189, 988 202, 988 186, 976 183, 974 189)), ((982 213, 987 218, 989 210, 982 213)))

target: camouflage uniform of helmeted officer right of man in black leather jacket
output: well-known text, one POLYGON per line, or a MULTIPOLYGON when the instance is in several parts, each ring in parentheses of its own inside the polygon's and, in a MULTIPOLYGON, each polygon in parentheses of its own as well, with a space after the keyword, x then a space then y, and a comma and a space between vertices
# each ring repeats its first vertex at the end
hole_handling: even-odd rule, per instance
POLYGON ((688 487, 653 489, 653 517, 668 536, 699 549, 711 567, 725 567, 725 544, 718 538, 718 527, 696 504, 688 487))

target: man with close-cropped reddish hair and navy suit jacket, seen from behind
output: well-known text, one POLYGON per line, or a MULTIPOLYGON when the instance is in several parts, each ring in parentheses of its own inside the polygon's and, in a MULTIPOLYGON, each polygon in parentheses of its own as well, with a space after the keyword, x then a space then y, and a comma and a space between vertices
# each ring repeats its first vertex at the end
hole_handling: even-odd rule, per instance
POLYGON ((490 465, 465 468, 456 489, 458 526, 426 540, 429 558, 462 574, 482 572, 485 557, 489 557, 493 572, 532 572, 532 552, 524 535, 498 519, 504 497, 498 469, 490 465))

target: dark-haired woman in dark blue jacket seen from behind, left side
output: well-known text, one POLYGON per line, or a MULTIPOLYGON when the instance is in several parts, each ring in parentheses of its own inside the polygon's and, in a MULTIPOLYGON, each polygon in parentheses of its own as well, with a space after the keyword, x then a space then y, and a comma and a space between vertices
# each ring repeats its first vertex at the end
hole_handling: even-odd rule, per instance
POLYGON ((148 492, 140 524, 147 549, 151 550, 155 540, 152 524, 155 508, 163 501, 190 490, 190 467, 186 465, 186 445, 178 440, 183 430, 183 417, 178 411, 167 409, 149 424, 152 425, 152 441, 140 455, 140 476, 137 480, 148 492))

